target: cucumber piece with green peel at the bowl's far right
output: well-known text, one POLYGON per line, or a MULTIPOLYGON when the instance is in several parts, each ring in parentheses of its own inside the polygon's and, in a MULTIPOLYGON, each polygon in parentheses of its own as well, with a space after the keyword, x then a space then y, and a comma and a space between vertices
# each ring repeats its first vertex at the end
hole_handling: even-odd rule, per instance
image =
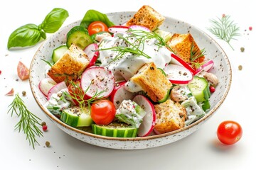
POLYGON ((197 102, 207 101, 210 98, 210 89, 208 81, 203 77, 194 76, 191 83, 188 84, 193 96, 197 102))

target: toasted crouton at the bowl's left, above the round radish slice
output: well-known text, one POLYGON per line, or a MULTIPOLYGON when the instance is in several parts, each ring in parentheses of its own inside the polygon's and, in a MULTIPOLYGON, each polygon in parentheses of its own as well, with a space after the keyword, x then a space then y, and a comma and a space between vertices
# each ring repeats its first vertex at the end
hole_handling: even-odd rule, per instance
POLYGON ((73 44, 64 53, 63 57, 53 64, 48 71, 48 76, 56 83, 70 80, 75 81, 89 64, 89 58, 85 52, 73 44))

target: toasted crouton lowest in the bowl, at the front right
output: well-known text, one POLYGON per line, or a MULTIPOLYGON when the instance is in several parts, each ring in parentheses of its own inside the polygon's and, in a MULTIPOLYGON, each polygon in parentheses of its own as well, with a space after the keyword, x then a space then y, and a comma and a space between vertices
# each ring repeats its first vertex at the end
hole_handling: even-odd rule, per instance
POLYGON ((185 126, 186 109, 180 103, 168 99, 154 106, 156 124, 154 130, 159 134, 178 130, 185 126))

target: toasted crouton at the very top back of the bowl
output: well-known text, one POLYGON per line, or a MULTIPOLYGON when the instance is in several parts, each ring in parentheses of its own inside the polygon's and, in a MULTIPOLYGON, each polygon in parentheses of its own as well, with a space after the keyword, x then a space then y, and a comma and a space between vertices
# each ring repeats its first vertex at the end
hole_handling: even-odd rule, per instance
POLYGON ((126 23, 126 26, 138 25, 155 30, 164 23, 164 16, 151 8, 151 6, 142 6, 139 11, 126 23))

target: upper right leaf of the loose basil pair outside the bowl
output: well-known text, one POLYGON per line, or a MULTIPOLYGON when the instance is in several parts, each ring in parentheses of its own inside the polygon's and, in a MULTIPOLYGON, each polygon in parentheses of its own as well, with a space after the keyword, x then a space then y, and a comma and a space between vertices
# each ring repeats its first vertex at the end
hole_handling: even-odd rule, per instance
POLYGON ((39 26, 46 33, 55 33, 68 18, 68 11, 63 8, 53 8, 39 26))

